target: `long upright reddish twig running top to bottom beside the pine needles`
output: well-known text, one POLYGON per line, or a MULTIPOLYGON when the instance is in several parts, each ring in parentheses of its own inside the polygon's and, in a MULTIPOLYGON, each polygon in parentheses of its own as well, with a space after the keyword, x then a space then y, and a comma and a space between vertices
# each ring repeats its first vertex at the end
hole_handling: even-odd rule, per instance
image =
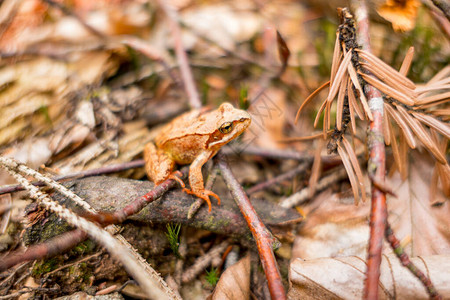
MULTIPOLYGON (((369 18, 366 1, 352 2, 354 8, 357 29, 358 44, 363 50, 370 52, 369 18)), ((385 174, 385 145, 383 134, 383 98, 376 88, 366 84, 364 92, 369 102, 373 120, 369 124, 368 142, 369 162, 368 173, 377 182, 384 182, 385 174)), ((380 278, 381 255, 383 237, 387 220, 386 194, 372 187, 372 201, 370 214, 370 240, 367 257, 366 280, 364 287, 364 299, 378 299, 378 281, 380 278)))

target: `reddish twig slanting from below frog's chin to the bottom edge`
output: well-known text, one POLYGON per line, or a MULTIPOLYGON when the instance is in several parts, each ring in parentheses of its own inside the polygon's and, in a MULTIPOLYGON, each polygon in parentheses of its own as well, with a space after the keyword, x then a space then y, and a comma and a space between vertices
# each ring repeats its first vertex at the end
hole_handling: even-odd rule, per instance
POLYGON ((267 283, 269 285, 270 295, 272 299, 286 299, 283 283, 281 282, 280 271, 275 260, 273 249, 278 246, 279 242, 264 226, 263 222, 257 215, 255 209, 250 203, 244 189, 234 177, 228 163, 223 158, 219 158, 219 167, 223 179, 228 189, 244 216, 250 231, 256 241, 259 257, 266 274, 267 283))

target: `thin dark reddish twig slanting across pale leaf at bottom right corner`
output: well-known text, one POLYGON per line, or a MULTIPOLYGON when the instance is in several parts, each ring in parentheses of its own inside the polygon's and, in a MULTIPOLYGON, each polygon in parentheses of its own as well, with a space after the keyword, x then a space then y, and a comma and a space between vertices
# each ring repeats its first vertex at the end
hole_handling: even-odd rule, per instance
POLYGON ((422 282, 425 289, 427 290, 428 295, 430 295, 430 299, 440 300, 442 296, 439 295, 430 278, 428 278, 422 271, 417 268, 417 266, 409 259, 408 254, 403 250, 403 247, 400 245, 400 241, 394 234, 389 222, 386 223, 386 230, 384 233, 386 240, 394 250, 394 253, 397 255, 398 259, 402 263, 403 266, 408 268, 411 273, 422 282))

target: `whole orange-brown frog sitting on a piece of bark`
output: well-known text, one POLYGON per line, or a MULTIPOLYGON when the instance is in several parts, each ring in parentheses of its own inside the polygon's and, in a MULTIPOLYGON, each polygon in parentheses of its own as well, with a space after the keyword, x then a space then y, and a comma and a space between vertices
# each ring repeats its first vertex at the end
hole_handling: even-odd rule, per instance
POLYGON ((166 179, 174 179, 183 187, 183 191, 196 195, 208 203, 209 196, 220 198, 215 193, 205 190, 202 166, 213 157, 219 149, 239 136, 250 125, 250 115, 234 108, 230 103, 223 103, 216 110, 205 112, 193 110, 185 113, 161 129, 155 143, 148 143, 144 149, 145 170, 155 184, 166 179), (189 185, 174 172, 175 164, 189 167, 189 185))

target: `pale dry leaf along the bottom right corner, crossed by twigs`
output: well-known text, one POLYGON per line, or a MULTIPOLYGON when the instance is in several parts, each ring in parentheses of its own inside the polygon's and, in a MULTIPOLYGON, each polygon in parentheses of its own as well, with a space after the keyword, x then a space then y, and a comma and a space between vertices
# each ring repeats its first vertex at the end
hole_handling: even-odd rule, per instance
MULTIPOLYGON (((444 299, 450 297, 450 256, 435 255, 412 261, 431 281, 444 299)), ((288 299, 362 299, 365 257, 295 259, 289 269, 288 299)), ((381 262, 378 299, 428 299, 421 282, 400 264, 394 254, 381 262)))

